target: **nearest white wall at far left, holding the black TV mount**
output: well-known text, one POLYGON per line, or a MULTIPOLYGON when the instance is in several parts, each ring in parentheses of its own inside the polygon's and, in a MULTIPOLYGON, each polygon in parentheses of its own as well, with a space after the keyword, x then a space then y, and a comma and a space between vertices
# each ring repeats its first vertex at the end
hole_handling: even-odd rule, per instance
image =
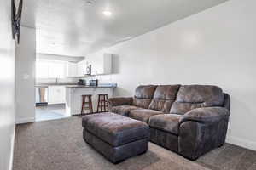
POLYGON ((0 1, 0 169, 10 170, 15 139, 15 41, 11 37, 11 1, 0 1))

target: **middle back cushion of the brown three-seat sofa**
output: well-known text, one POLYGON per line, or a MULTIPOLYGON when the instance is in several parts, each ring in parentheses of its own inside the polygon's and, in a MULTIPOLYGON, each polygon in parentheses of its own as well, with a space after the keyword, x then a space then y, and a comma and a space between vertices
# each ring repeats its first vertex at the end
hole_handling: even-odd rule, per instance
POLYGON ((149 105, 149 109, 168 113, 172 103, 176 99, 180 85, 160 85, 154 91, 154 97, 149 105))

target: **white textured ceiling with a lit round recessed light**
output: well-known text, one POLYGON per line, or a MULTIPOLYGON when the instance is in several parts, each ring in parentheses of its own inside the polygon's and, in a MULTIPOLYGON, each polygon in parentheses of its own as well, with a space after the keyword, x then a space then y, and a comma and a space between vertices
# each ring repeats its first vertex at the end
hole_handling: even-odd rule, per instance
POLYGON ((22 26, 37 29, 38 53, 84 56, 225 1, 25 0, 22 26))

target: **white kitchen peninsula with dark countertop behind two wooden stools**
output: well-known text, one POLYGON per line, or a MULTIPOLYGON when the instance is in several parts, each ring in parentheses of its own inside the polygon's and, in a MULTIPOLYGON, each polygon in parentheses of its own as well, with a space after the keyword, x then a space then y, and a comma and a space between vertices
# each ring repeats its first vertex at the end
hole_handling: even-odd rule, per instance
POLYGON ((96 112, 98 94, 108 94, 108 98, 113 96, 113 89, 116 84, 100 84, 98 86, 68 85, 66 86, 66 113, 68 115, 81 114, 82 95, 92 95, 93 111, 96 112))

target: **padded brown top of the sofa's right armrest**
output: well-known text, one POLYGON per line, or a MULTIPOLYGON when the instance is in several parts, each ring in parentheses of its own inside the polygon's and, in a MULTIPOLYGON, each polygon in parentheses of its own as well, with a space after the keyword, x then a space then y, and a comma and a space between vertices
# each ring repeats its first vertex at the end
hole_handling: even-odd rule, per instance
POLYGON ((197 108, 187 112, 181 119, 180 124, 187 121, 215 122, 228 116, 230 116, 230 111, 224 107, 197 108))

